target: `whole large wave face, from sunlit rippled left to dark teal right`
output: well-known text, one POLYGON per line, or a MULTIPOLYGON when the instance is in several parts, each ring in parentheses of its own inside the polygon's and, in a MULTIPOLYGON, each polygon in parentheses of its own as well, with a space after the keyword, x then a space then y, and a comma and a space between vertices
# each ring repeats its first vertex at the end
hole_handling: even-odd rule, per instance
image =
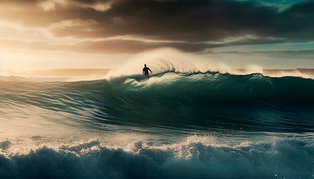
POLYGON ((300 77, 169 71, 148 80, 133 75, 1 83, 3 115, 19 110, 31 115, 40 108, 45 120, 66 115, 58 119, 64 125, 281 132, 314 128, 314 80, 300 77))

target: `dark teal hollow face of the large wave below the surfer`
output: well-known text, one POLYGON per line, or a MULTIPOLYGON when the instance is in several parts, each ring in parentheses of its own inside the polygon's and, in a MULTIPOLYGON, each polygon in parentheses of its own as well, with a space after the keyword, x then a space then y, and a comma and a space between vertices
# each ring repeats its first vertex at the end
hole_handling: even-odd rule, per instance
POLYGON ((312 79, 169 72, 140 81, 132 76, 112 89, 118 97, 106 107, 114 116, 179 128, 312 130, 312 79))

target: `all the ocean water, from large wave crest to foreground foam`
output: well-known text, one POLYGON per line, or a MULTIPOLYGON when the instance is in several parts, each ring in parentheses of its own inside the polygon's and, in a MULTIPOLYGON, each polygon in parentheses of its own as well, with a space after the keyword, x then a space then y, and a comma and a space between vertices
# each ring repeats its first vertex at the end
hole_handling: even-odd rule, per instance
POLYGON ((1 76, 0 178, 314 178, 314 79, 1 76))

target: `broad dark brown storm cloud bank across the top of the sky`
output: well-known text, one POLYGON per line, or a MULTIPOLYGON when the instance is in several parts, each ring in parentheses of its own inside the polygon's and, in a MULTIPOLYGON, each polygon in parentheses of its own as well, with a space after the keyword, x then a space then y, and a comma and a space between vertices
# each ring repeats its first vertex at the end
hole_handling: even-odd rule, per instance
POLYGON ((145 46, 202 51, 218 46, 314 39, 313 0, 292 4, 283 11, 259 2, 238 0, 70 0, 64 4, 55 3, 46 11, 38 5, 42 2, 39 0, 4 0, 0 3, 26 1, 27 8, 0 12, 0 15, 25 26, 49 27, 58 37, 97 39, 127 35, 134 39, 173 41, 117 41, 121 48, 134 48, 134 51, 145 49, 145 46), (109 2, 110 8, 106 10, 93 8, 93 5, 109 2), (247 34, 253 38, 210 44, 247 34))

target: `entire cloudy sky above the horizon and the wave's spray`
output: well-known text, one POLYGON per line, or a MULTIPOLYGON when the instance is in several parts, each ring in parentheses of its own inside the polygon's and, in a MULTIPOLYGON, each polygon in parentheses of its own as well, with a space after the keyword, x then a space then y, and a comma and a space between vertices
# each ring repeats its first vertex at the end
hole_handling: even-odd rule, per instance
POLYGON ((116 68, 155 49, 314 68, 313 19, 314 0, 0 0, 0 71, 116 68))

